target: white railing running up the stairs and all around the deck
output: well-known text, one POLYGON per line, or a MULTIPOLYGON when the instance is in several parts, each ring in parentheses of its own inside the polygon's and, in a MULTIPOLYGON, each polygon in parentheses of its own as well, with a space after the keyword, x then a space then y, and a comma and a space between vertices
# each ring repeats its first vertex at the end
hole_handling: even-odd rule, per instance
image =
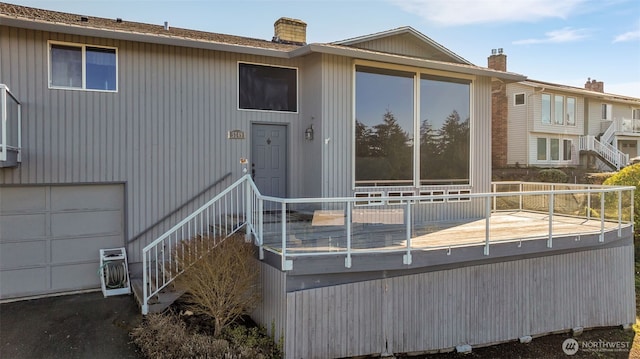
MULTIPOLYGON (((500 211, 548 215, 546 224, 542 225, 548 231, 542 238, 549 248, 553 246, 554 221, 563 217, 599 221, 595 234, 600 235, 600 241, 604 241, 605 231, 611 228, 617 228, 618 236, 621 236, 622 228, 633 226, 634 189, 496 182, 491 193, 376 197, 368 202, 370 199, 362 197, 263 196, 247 175, 144 248, 142 311, 146 314, 149 300, 184 271, 184 268, 176 268, 179 261, 174 257, 175 249, 184 240, 194 237, 204 238, 208 243, 201 253, 192 254, 201 256, 233 233, 243 230, 246 238, 254 240, 258 246, 260 259, 264 251, 281 257, 283 271, 293 269, 293 258, 325 255, 344 256, 344 265, 350 268, 354 253, 398 253, 402 263, 409 265, 413 252, 425 250, 424 246, 412 243, 414 236, 420 226, 429 227, 435 223, 430 216, 437 210, 457 208, 458 213, 463 213, 456 218, 458 221, 483 220, 482 245, 484 254, 489 255, 490 246, 498 243, 491 237, 491 217, 500 211), (466 211, 465 207, 472 210, 466 211), (317 232, 318 228, 325 230, 317 232), (402 245, 398 246, 398 241, 392 246, 384 240, 379 244, 367 242, 362 240, 365 234, 379 235, 383 239, 399 235, 402 245), (332 240, 338 237, 340 245, 333 246, 332 240), (304 246, 301 238, 316 241, 309 241, 312 245, 304 246)), ((458 245, 464 244, 449 243, 445 247, 451 249, 458 245)))

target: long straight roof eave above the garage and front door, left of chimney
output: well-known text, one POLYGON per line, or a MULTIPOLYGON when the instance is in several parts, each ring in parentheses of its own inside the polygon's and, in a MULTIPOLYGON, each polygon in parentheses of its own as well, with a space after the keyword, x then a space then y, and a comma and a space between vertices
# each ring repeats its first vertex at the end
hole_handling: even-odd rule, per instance
POLYGON ((191 48, 199 48, 199 49, 207 49, 207 50, 217 50, 217 51, 235 52, 235 53, 259 55, 259 56, 280 57, 280 58, 289 57, 288 52, 282 51, 282 50, 252 47, 252 46, 245 46, 245 45, 234 45, 234 44, 207 41, 207 40, 188 39, 188 38, 175 37, 175 36, 163 36, 160 34, 144 34, 144 33, 136 33, 136 32, 129 32, 129 31, 91 28, 86 26, 73 26, 69 24, 34 21, 29 19, 18 19, 18 18, 11 18, 11 17, 5 17, 5 16, 0 16, 0 25, 13 26, 13 27, 19 27, 19 28, 31 29, 31 30, 39 30, 39 31, 60 32, 60 33, 71 34, 71 35, 93 36, 93 37, 102 37, 102 38, 124 40, 124 41, 145 42, 145 43, 152 43, 152 44, 159 44, 159 45, 182 46, 182 47, 191 47, 191 48))

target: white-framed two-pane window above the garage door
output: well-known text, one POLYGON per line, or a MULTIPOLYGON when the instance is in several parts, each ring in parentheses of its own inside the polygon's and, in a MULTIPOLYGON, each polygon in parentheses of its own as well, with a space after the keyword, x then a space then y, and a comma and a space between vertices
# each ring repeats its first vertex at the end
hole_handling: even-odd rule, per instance
POLYGON ((117 49, 49 42, 49 87, 117 91, 117 49))

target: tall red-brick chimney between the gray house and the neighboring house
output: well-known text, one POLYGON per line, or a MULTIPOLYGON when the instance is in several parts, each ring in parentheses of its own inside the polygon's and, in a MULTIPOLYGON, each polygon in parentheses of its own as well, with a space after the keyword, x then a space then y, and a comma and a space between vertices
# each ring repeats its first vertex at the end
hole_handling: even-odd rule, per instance
MULTIPOLYGON (((488 58, 488 67, 496 71, 507 71, 507 55, 502 49, 492 49, 488 58)), ((508 134, 507 86, 504 82, 491 81, 491 167, 507 166, 508 134)))

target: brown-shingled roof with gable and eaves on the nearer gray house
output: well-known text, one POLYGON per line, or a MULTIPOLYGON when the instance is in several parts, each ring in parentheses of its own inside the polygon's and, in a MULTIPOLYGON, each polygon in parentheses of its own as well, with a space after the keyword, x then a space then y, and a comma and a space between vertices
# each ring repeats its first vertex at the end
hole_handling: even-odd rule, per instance
MULTIPOLYGON (((363 49, 349 44, 350 42, 353 42, 353 44, 358 43, 359 41, 357 39, 344 40, 331 44, 283 44, 268 40, 175 27, 165 29, 162 25, 144 24, 121 19, 82 16, 78 14, 36 9, 1 2, 0 25, 80 36, 93 36, 124 41, 192 47, 278 58, 295 58, 311 53, 324 53, 356 59, 433 68, 463 74, 489 76, 500 78, 507 82, 523 81, 526 78, 523 75, 512 72, 502 72, 475 66, 462 58, 460 59, 463 60, 463 63, 437 61, 417 56, 398 55, 389 52, 363 49)), ((401 33, 415 35, 425 44, 433 46, 434 48, 442 49, 444 53, 451 54, 451 56, 457 56, 410 27, 367 35, 358 39, 381 38, 401 33)))

